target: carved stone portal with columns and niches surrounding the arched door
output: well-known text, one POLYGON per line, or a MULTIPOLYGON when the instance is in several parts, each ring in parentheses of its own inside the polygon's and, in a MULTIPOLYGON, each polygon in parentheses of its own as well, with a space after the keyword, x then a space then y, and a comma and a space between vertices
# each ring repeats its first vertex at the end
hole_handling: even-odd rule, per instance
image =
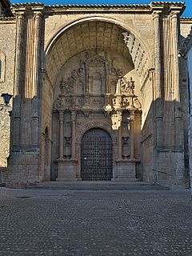
MULTIPOLYGON (((60 94, 55 95, 54 101, 54 111, 60 113, 60 155, 55 155, 58 181, 85 179, 81 166, 84 161, 81 160, 82 137, 86 131, 98 127, 108 131, 113 142, 113 175, 110 178, 135 180, 135 162, 138 162, 138 159, 134 158, 135 123, 132 116, 134 111, 141 108, 141 104, 134 94, 134 80, 130 78, 127 81, 126 78, 119 77, 121 72, 113 65, 114 61, 110 64, 97 54, 89 56, 80 61, 79 68, 72 70, 70 77, 62 77, 59 82, 60 94), (125 115, 123 111, 128 113, 126 120, 131 120, 126 122, 129 134, 126 136, 118 130, 125 115)), ((86 149, 85 143, 83 149, 86 149)), ((97 154, 96 150, 93 154, 97 154)), ((101 159, 99 161, 101 162, 101 159)), ((91 177, 98 179, 100 176, 93 174, 91 177)))

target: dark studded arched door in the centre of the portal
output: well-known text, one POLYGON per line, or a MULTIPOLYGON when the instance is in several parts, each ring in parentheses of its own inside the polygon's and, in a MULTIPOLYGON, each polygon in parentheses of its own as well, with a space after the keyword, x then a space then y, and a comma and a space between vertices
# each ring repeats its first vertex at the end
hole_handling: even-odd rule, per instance
POLYGON ((83 135, 81 177, 86 181, 109 181, 113 178, 113 143, 110 134, 93 128, 83 135))

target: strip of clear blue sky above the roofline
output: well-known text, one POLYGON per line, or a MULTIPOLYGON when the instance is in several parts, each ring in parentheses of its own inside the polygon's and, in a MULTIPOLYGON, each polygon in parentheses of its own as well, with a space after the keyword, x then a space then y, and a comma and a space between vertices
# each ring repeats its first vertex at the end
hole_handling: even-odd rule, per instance
MULTIPOLYGON (((157 0, 158 1, 158 0, 157 0)), ((178 0, 179 1, 179 0, 178 0)), ((172 2, 178 2, 172 1, 172 2)), ((54 4, 147 4, 150 1, 147 0, 10 0, 11 3, 15 2, 42 2, 46 5, 54 4)), ((162 1, 167 2, 167 0, 162 1)), ((192 17, 192 0, 186 0, 186 10, 183 17, 192 17)))

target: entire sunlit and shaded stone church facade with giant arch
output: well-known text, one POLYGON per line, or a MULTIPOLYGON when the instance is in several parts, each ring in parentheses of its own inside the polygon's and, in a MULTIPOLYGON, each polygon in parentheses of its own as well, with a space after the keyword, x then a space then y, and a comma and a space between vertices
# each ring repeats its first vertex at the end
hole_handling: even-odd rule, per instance
POLYGON ((0 93, 13 94, 11 116, 0 112, 6 186, 189 185, 192 18, 180 18, 182 2, 7 10, 0 18, 0 93))

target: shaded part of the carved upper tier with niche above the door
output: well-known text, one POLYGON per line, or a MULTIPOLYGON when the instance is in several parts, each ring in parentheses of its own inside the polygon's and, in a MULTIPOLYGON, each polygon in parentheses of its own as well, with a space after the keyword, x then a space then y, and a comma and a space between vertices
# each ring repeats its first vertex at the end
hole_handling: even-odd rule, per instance
MULTIPOLYGON (((102 110, 105 94, 114 90, 121 70, 115 69, 114 58, 109 63, 102 56, 86 56, 80 61, 77 70, 72 70, 69 78, 59 83, 61 94, 54 102, 56 110, 83 109, 83 111, 102 110)), ((88 111, 89 112, 89 111, 88 111)))

